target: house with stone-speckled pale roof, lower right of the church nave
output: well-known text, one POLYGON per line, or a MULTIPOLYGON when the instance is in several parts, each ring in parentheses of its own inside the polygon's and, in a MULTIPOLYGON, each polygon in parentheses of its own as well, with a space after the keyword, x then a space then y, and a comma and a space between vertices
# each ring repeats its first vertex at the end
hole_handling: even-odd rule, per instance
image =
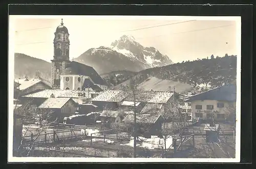
POLYGON ((103 111, 116 110, 119 104, 126 98, 127 94, 122 90, 106 90, 91 100, 91 103, 103 111))

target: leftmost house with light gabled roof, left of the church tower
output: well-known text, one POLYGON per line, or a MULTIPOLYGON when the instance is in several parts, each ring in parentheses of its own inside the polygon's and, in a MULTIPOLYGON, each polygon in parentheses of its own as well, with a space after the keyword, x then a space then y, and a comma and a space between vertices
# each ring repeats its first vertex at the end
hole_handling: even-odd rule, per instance
POLYGON ((15 99, 19 99, 18 96, 23 96, 51 88, 51 83, 40 77, 35 77, 30 80, 28 78, 14 80, 14 95, 16 96, 15 99))

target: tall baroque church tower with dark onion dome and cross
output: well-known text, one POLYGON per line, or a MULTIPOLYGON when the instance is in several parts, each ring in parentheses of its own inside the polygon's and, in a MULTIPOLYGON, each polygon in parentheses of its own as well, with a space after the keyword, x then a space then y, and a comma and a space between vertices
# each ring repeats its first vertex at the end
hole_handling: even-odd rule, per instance
POLYGON ((54 56, 52 61, 52 86, 53 88, 59 88, 60 86, 60 74, 63 73, 69 60, 69 31, 63 26, 63 19, 61 19, 60 26, 56 28, 54 33, 54 56))

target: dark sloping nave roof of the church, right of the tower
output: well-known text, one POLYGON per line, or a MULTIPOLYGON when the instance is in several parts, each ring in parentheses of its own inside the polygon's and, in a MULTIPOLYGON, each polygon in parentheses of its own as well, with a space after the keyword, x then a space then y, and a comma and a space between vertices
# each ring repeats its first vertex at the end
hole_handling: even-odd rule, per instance
POLYGON ((95 84, 106 85, 93 67, 76 61, 70 62, 62 75, 84 75, 90 77, 95 84))

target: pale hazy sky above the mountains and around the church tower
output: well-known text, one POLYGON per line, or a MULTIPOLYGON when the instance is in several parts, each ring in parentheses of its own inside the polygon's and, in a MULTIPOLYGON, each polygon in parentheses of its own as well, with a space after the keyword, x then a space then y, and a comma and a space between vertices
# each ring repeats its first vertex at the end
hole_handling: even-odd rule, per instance
POLYGON ((15 25, 15 52, 49 61, 53 59, 53 39, 63 18, 70 34, 70 59, 92 47, 110 46, 122 35, 132 35, 143 46, 153 46, 174 62, 197 58, 237 55, 236 21, 161 20, 106 18, 19 18, 15 25), (184 22, 187 21, 187 22, 184 22), (178 23, 181 22, 181 23, 178 23), (166 25, 169 23, 175 23, 166 25))

